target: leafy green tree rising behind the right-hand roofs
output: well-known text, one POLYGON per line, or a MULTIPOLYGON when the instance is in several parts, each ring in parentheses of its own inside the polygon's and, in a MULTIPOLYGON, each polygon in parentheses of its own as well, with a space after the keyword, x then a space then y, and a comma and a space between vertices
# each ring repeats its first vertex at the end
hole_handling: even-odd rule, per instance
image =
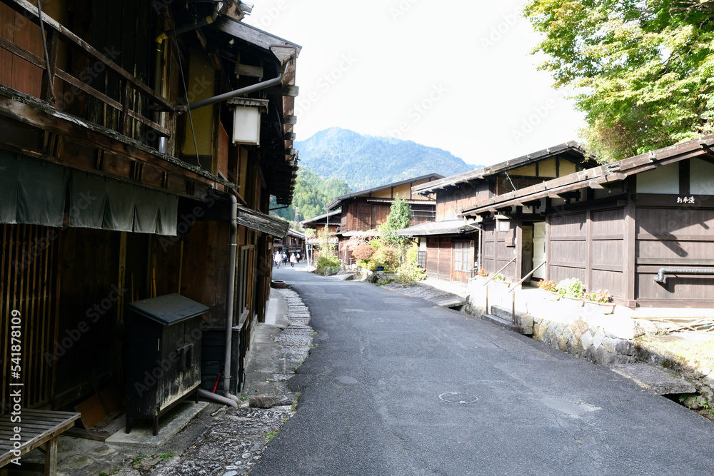
POLYGON ((617 160, 713 131, 714 4, 531 0, 555 86, 574 88, 588 147, 617 160))

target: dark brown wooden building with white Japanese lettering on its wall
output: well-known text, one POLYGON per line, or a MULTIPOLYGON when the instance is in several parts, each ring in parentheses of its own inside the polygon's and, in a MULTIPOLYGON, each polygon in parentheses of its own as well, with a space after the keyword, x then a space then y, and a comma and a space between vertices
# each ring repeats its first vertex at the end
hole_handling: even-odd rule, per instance
MULTIPOLYGON (((571 173, 469 206, 485 242, 514 240, 513 278, 527 269, 523 230, 545 223, 545 275, 607 289, 629 307, 714 305, 714 136, 571 173), (499 228, 498 216, 508 216, 499 228)), ((503 248, 501 248, 503 249, 503 248)))

